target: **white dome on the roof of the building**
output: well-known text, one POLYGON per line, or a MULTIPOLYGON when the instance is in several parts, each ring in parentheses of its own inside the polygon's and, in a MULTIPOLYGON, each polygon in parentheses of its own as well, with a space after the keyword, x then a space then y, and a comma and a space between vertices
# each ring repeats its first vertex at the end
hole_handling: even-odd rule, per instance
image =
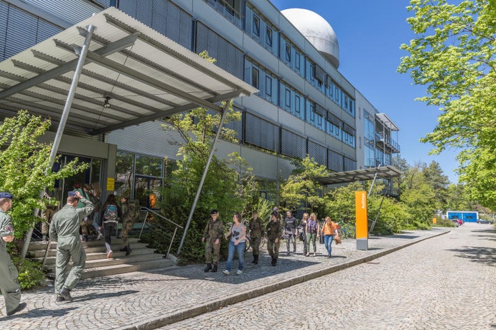
POLYGON ((340 45, 336 33, 321 15, 302 8, 284 9, 281 13, 335 68, 340 66, 340 45))

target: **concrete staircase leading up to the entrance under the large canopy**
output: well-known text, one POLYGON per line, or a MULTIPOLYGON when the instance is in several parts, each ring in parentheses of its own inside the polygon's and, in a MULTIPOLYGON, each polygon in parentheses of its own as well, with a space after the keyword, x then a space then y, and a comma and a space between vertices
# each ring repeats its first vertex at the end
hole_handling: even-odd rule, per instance
MULTIPOLYGON (((154 249, 147 248, 146 243, 138 243, 138 239, 129 239, 133 249, 131 255, 119 251, 122 248, 122 239, 112 237, 113 257, 107 259, 105 241, 82 242, 86 252, 86 266, 81 278, 95 278, 99 276, 110 276, 119 273, 130 273, 131 271, 143 271, 147 269, 159 269, 174 265, 173 260, 167 260, 161 254, 154 253, 154 249)), ((43 262, 43 256, 47 242, 31 242, 29 244, 28 256, 31 259, 43 262)), ((55 277, 55 256, 57 254, 57 243, 52 242, 48 257, 45 262, 45 271, 50 278, 55 277)), ((72 262, 69 263, 69 268, 72 262)))

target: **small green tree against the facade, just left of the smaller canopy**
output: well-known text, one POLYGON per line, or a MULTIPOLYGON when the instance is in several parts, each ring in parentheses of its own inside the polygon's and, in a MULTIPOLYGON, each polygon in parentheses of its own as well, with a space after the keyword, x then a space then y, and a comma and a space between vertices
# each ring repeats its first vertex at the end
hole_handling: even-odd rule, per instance
POLYGON ((306 212, 317 211, 324 204, 321 197, 322 186, 317 179, 329 174, 327 167, 319 165, 309 156, 302 160, 293 160, 292 163, 295 169, 281 184, 281 202, 291 211, 298 207, 302 207, 306 212))

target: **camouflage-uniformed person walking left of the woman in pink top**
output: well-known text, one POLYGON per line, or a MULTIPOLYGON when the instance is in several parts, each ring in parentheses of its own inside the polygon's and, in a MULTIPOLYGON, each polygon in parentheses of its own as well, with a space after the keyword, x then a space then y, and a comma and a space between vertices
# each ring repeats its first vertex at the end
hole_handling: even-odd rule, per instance
POLYGON ((214 268, 212 273, 217 271, 217 266, 219 265, 219 252, 221 249, 221 237, 224 236, 224 224, 219 219, 219 211, 212 210, 210 212, 212 219, 208 220, 205 230, 203 230, 203 237, 201 241, 206 241, 205 243, 205 260, 207 260, 207 267, 205 268, 205 273, 212 269, 212 249, 214 250, 214 268))

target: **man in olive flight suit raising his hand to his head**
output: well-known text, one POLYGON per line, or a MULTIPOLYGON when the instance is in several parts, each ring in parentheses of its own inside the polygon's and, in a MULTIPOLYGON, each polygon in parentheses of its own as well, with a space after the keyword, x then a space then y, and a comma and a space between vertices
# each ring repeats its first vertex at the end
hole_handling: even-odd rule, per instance
POLYGON ((67 204, 52 218, 50 239, 57 242, 57 259, 55 264, 55 293, 57 301, 72 301, 71 290, 81 278, 85 269, 86 253, 79 239, 81 220, 93 211, 93 204, 79 191, 70 191, 67 204), (85 207, 78 208, 78 202, 85 207), (69 260, 73 260, 71 272, 66 274, 69 260))

